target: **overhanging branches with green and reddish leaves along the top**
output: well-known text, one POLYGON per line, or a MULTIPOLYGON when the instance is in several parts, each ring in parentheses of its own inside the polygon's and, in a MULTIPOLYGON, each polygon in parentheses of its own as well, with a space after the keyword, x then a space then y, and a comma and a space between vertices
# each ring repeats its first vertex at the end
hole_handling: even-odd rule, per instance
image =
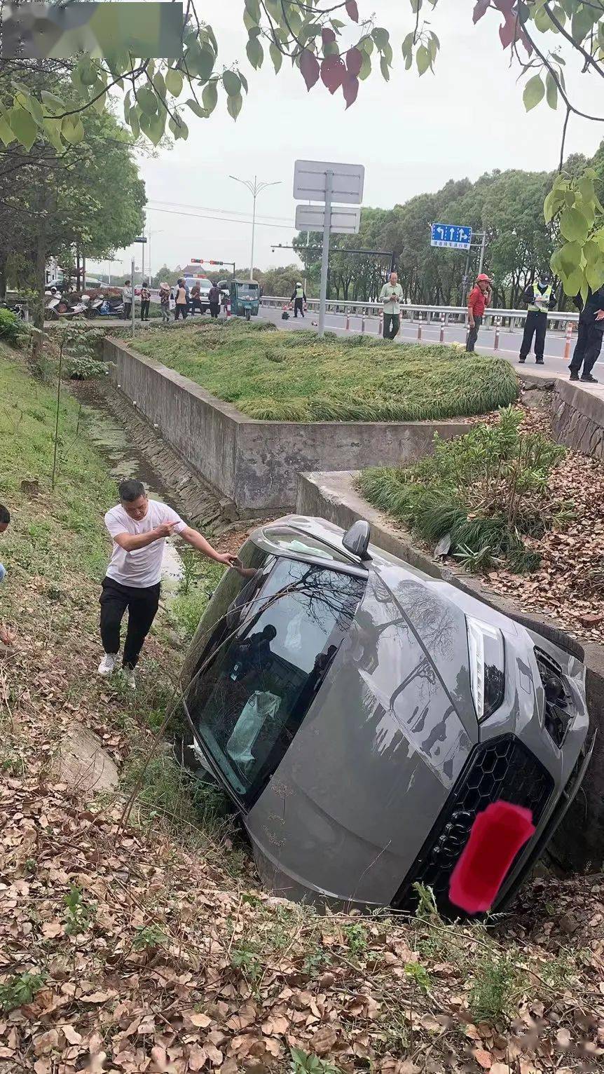
MULTIPOLYGON (((436 70, 441 42, 431 18, 434 9, 438 14, 441 2, 409 0, 410 29, 400 50, 404 68, 416 69, 421 76, 436 70)), ((391 78, 395 62, 391 31, 378 24, 378 16, 369 12, 366 2, 241 0, 240 12, 248 34, 246 56, 230 67, 221 66, 216 34, 209 24, 198 19, 192 2, 186 8, 182 56, 178 60, 133 58, 116 48, 114 55, 103 59, 84 55, 73 62, 10 61, 3 75, 0 74, 0 141, 5 146, 16 142, 29 151, 42 136, 57 153, 62 153, 67 146, 78 145, 85 139, 83 112, 89 108, 102 112, 107 95, 116 87, 123 92, 123 116, 134 137, 142 134, 153 145, 167 133, 175 140, 186 139, 191 114, 207 118, 220 101, 232 118, 237 119, 249 88, 241 68, 246 64, 259 70, 267 57, 276 73, 285 61, 285 66, 299 72, 308 91, 324 87, 332 95, 339 93, 347 108, 354 103, 360 84, 372 70, 379 68, 386 82, 391 78), (48 62, 54 64, 53 70, 58 66, 69 73, 64 92, 31 89, 29 74, 44 69, 48 62)), ((502 48, 511 55, 512 67, 524 76, 527 111, 563 106, 562 161, 569 117, 604 119, 585 113, 575 103, 564 73, 572 60, 578 62, 584 77, 604 78, 601 0, 476 0, 472 12, 474 24, 487 15, 502 48)), ((569 294, 577 284, 586 293, 590 280, 604 278, 604 251, 600 248, 604 218, 599 201, 588 190, 589 176, 585 179, 587 194, 569 176, 564 179, 568 184, 564 205, 556 198, 546 208, 554 228, 566 208, 576 209, 588 221, 581 237, 571 240, 570 249, 562 247, 556 262, 569 294)), ((560 231, 563 235, 561 224, 560 231)), ((575 231, 580 232, 578 221, 575 231)))

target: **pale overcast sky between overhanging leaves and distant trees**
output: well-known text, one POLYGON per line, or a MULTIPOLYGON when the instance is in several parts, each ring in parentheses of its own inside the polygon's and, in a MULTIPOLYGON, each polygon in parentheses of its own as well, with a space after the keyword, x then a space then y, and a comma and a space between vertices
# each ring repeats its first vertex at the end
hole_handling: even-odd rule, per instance
MULTIPOLYGON (((200 0, 200 15, 210 19, 218 38, 219 60, 241 60, 250 92, 237 122, 222 96, 210 119, 187 110, 187 142, 141 160, 153 271, 164 263, 185 265, 192 257, 249 264, 251 194, 230 175, 280 180, 259 197, 254 263, 265 268, 295 260, 293 251, 272 253, 271 246, 291 244, 295 234, 292 185, 298 157, 365 164, 364 204, 383 208, 437 190, 450 178, 556 166, 563 114, 546 104, 525 112, 517 70, 510 70, 509 52, 499 42, 496 12, 474 27, 473 0, 440 0, 430 13, 441 41, 436 75, 419 78, 404 70, 400 53, 412 28, 408 0, 358 0, 358 8, 362 17, 375 12, 378 24, 391 30, 394 68, 389 83, 379 71, 362 83, 347 112, 341 93, 332 97, 321 83, 307 93, 299 72, 285 63, 278 76, 268 57, 260 72, 253 71, 245 55, 241 0, 200 0)), ((566 70, 589 108, 587 84, 566 70)), ((590 155, 602 135, 598 124, 574 118, 568 151, 590 155)), ((120 251, 113 271, 129 271, 131 253, 120 251)))

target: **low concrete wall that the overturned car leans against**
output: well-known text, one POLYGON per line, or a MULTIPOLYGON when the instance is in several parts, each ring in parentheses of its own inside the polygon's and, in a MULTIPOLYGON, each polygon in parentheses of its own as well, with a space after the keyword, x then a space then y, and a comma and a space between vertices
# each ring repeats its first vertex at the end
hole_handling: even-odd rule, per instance
MULTIPOLYGON (((348 529, 357 519, 371 526, 371 541, 378 548, 399 556, 432 578, 442 578, 457 589, 483 600, 504 615, 518 620, 529 629, 548 626, 560 634, 558 624, 546 615, 528 613, 513 600, 492 593, 481 578, 466 575, 460 568, 444 566, 417 548, 413 538, 387 516, 372 507, 355 488, 357 474, 300 474, 296 510, 318 516, 348 529)), ((587 701, 592 727, 598 728, 595 746, 583 786, 562 821, 549 850, 566 869, 598 871, 604 861, 604 647, 581 642, 587 668, 587 701)))

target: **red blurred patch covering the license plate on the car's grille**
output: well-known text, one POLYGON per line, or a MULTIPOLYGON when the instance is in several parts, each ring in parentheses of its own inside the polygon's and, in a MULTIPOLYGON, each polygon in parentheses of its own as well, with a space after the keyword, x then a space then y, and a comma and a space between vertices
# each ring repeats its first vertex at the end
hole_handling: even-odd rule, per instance
POLYGON ((530 809, 501 800, 487 806, 451 875, 450 901, 468 914, 490 910, 510 866, 534 832, 530 809))

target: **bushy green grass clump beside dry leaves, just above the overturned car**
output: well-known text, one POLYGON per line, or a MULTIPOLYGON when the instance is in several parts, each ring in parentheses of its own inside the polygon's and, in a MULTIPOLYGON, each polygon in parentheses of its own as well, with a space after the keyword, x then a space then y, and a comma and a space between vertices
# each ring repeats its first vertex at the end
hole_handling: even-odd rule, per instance
POLYGON ((375 507, 430 545, 451 538, 451 554, 473 574, 505 562, 511 570, 539 566, 524 537, 541 538, 568 514, 548 490, 565 451, 540 433, 522 433, 518 409, 495 424, 475 425, 409 467, 365 470, 358 484, 375 507))

